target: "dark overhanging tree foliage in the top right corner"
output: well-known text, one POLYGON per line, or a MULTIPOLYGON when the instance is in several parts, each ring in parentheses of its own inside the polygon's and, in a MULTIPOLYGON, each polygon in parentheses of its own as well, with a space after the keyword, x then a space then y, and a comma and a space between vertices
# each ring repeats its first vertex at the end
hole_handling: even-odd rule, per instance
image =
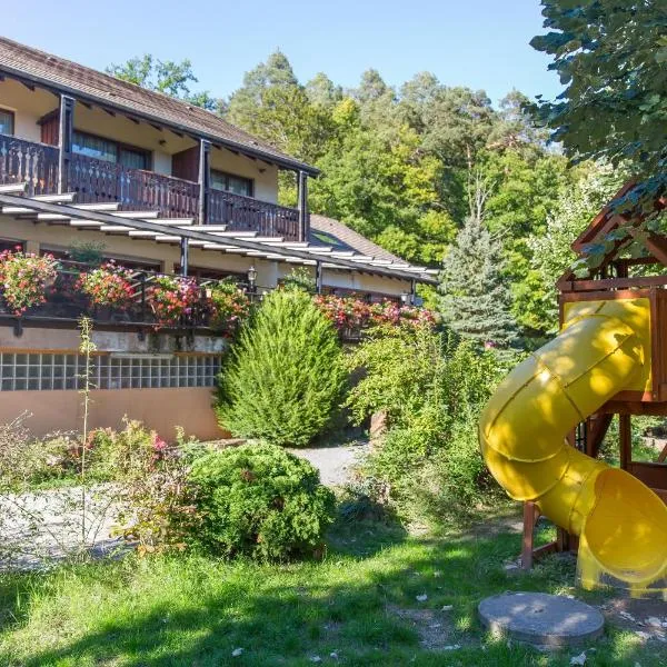
POLYGON ((537 104, 542 122, 576 159, 626 161, 666 183, 667 8, 663 0, 542 0, 546 34, 531 44, 552 57, 565 91, 537 104))

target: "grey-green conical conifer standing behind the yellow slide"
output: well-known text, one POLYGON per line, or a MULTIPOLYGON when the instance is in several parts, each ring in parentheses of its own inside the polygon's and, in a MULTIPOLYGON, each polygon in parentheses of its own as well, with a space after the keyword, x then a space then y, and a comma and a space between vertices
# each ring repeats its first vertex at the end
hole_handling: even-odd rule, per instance
POLYGON ((440 310, 462 338, 507 348, 516 338, 511 296, 502 278, 502 245, 470 215, 442 263, 440 310))

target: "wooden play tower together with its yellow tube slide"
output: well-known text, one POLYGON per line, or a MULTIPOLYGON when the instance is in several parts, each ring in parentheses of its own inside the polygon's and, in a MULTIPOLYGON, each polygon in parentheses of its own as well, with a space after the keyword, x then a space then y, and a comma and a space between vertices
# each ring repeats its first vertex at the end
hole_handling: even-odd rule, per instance
MULTIPOLYGON (((626 186, 616 200, 631 192, 626 186)), ((667 200, 656 198, 654 211, 667 200)), ((607 207, 573 248, 643 217, 607 207)), ((559 281, 561 331, 498 387, 479 427, 485 461, 510 497, 525 502, 522 565, 578 548, 581 584, 667 599, 667 448, 633 460, 631 416, 667 416, 667 237, 651 232, 647 252, 626 257, 618 240, 594 276, 559 281), (620 468, 597 460, 618 415, 620 468), (534 548, 539 516, 558 527, 534 548)))

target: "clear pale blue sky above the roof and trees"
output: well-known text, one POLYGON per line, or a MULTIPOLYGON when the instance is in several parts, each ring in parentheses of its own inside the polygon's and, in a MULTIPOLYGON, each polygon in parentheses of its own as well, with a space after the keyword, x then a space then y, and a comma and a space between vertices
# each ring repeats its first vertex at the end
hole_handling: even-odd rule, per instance
POLYGON ((3 12, 3 36, 83 64, 153 53, 190 58, 197 89, 225 97, 243 72, 280 48, 301 81, 325 71, 351 87, 375 67, 399 84, 419 71, 444 83, 560 91, 548 59, 529 46, 541 32, 539 0, 31 0, 3 12))

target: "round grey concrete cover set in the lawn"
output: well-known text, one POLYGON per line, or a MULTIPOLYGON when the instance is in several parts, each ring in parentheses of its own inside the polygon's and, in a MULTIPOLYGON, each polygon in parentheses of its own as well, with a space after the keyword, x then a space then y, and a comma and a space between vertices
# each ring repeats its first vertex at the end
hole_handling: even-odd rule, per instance
POLYGON ((481 623, 494 633, 535 646, 578 646, 597 639, 603 615, 579 600, 545 593, 506 593, 479 604, 481 623))

